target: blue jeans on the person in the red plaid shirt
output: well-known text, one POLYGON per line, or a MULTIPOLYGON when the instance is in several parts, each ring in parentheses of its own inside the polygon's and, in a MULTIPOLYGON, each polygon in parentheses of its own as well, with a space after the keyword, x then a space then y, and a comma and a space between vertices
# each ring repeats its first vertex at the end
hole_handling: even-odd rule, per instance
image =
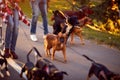
POLYGON ((18 37, 19 15, 16 9, 13 10, 13 16, 8 16, 6 34, 5 34, 5 48, 15 51, 15 46, 18 37))

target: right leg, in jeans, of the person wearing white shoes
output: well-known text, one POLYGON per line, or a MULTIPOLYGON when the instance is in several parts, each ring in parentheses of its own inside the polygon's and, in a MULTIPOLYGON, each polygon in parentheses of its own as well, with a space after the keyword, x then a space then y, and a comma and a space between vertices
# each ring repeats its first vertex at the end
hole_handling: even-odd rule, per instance
POLYGON ((48 34, 48 20, 47 20, 47 0, 41 0, 39 4, 41 16, 43 20, 44 35, 48 34))

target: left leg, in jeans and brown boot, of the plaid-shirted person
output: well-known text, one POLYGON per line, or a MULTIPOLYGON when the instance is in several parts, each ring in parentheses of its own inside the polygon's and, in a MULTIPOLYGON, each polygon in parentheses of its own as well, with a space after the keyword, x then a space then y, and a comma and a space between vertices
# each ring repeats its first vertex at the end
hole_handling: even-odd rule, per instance
POLYGON ((5 34, 5 51, 4 51, 4 56, 6 58, 10 57, 10 45, 11 45, 11 37, 12 37, 12 32, 13 32, 13 18, 11 15, 7 17, 8 22, 7 22, 7 27, 6 27, 6 34, 5 34))

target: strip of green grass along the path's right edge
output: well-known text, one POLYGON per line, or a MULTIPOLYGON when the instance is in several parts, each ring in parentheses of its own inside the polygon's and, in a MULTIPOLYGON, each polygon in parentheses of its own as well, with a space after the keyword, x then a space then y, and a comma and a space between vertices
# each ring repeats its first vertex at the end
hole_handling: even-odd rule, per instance
POLYGON ((83 31, 83 35, 86 39, 95 40, 99 44, 107 44, 120 50, 120 36, 95 31, 90 28, 83 28, 83 31))

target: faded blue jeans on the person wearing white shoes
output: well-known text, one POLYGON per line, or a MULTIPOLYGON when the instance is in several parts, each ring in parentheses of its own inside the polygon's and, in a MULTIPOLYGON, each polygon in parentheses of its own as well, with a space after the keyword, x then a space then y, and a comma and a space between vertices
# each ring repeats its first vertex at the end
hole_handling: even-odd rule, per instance
POLYGON ((48 33, 48 20, 47 20, 47 0, 35 0, 31 1, 32 7, 32 23, 31 23, 31 34, 36 34, 36 26, 38 17, 41 14, 43 21, 44 34, 48 33))

